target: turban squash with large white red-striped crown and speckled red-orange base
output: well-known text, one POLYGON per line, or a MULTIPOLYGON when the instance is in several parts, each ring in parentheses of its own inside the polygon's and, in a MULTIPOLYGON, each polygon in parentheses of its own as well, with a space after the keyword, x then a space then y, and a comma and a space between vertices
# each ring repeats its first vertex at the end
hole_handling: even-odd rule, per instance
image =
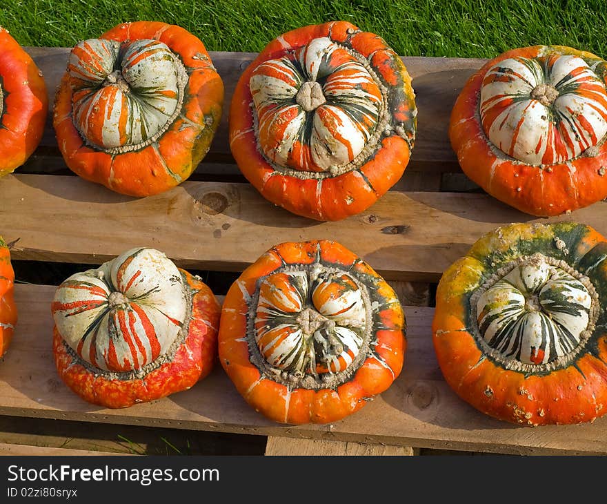
POLYGON ((59 376, 83 399, 120 408, 192 387, 211 370, 219 303, 155 249, 132 249, 55 291, 59 376))

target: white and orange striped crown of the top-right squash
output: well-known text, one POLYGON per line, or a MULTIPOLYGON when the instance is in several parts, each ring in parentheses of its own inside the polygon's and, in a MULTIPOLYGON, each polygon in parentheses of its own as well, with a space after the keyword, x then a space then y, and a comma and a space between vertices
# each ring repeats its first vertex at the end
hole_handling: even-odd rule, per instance
POLYGON ((488 70, 483 129, 493 145, 528 164, 578 157, 607 133, 607 90, 579 56, 513 57, 488 70))

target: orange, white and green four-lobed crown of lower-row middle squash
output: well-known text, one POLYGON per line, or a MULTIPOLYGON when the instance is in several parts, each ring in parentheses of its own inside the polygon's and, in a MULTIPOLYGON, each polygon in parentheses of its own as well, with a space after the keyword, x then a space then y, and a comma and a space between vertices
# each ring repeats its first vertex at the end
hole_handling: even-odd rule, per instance
POLYGON ((364 343, 366 308, 350 275, 274 273, 261 282, 255 341, 263 358, 296 374, 339 373, 364 343))

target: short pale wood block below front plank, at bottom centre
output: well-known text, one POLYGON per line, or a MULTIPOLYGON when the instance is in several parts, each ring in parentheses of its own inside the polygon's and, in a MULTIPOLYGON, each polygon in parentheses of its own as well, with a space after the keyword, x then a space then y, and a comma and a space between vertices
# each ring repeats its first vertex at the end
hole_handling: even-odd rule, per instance
POLYGON ((297 439, 270 436, 268 456, 411 456, 417 451, 407 446, 366 445, 353 441, 297 439))

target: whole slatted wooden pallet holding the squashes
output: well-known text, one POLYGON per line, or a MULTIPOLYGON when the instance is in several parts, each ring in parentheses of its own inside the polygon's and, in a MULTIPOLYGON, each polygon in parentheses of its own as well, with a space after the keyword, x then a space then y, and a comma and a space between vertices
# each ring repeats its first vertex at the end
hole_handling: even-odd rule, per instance
MULTIPOLYGON (((68 49, 27 50, 46 77, 52 104, 68 49)), ((451 391, 435 359, 433 288, 442 271, 481 235, 509 222, 550 220, 577 220, 607 232, 604 202, 555 219, 535 219, 488 197, 461 173, 448 141, 450 110, 461 86, 484 60, 405 57, 417 93, 419 124, 404 176, 368 211, 321 223, 272 206, 246 183, 230 155, 227 110, 235 83, 254 56, 211 53, 226 86, 223 121, 190 180, 154 197, 125 197, 72 175, 57 149, 49 117, 36 153, 0 180, 0 235, 14 242, 16 262, 30 260, 41 267, 52 262, 100 264, 133 246, 153 246, 187 269, 232 275, 279 242, 337 240, 401 295, 408 322, 401 376, 361 411, 333 425, 266 420, 246 405, 219 364, 189 391, 128 409, 101 409, 75 396, 54 369, 54 286, 17 284, 19 323, 0 363, 0 415, 24 423, 84 422, 91 434, 112 424, 155 427, 159 436, 163 429, 268 436, 266 454, 412 454, 420 448, 606 453, 607 418, 591 425, 537 428, 493 420, 451 391)), ((26 434, 21 432, 12 445, 1 445, 0 451, 21 454, 32 445, 30 453, 46 452, 34 447, 43 441, 26 434)))

